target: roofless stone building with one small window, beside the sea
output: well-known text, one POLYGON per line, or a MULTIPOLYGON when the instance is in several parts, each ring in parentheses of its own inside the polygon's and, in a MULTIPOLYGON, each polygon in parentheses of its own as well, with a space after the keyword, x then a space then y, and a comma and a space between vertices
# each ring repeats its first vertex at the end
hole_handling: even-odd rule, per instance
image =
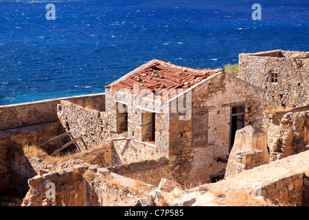
POLYGON ((273 50, 239 55, 239 78, 264 89, 269 107, 309 103, 309 52, 273 50))

